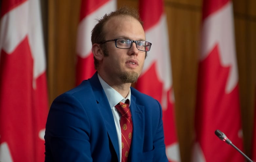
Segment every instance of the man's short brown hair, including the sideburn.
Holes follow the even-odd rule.
[[[103,27],[108,20],[110,20],[112,17],[115,17],[115,16],[131,16],[136,20],[138,20],[140,24],[143,26],[143,22],[139,17],[138,10],[134,8],[129,8],[127,6],[123,6],[115,11],[105,14],[101,19],[96,19],[98,23],[95,25],[95,27],[92,30],[92,36],[91,36],[92,45],[95,43],[100,43],[105,41],[106,33],[104,32]],[[100,46],[101,48],[106,50],[105,44],[101,44]],[[98,66],[98,60],[96,60],[94,57],[94,67],[96,70],[97,70],[97,66]]]

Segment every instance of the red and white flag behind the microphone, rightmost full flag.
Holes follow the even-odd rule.
[[[243,150],[233,5],[230,0],[204,0],[199,57],[194,162],[241,162],[244,157],[221,141],[222,131]]]

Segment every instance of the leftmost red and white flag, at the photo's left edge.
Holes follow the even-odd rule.
[[[8,0],[0,22],[0,161],[44,159],[48,112],[39,0]]]

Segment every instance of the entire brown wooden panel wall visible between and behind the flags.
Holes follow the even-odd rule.
[[[138,8],[138,0],[117,0]],[[233,0],[245,153],[250,155],[256,92],[256,1]],[[165,0],[181,160],[189,162],[194,140],[197,57],[202,0]],[[75,86],[75,43],[80,0],[48,0],[49,104]],[[217,139],[216,139],[217,140]],[[232,149],[232,148],[230,148]]]

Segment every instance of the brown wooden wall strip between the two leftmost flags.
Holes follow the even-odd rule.
[[[49,101],[75,86],[75,44],[80,0],[48,1]]]

